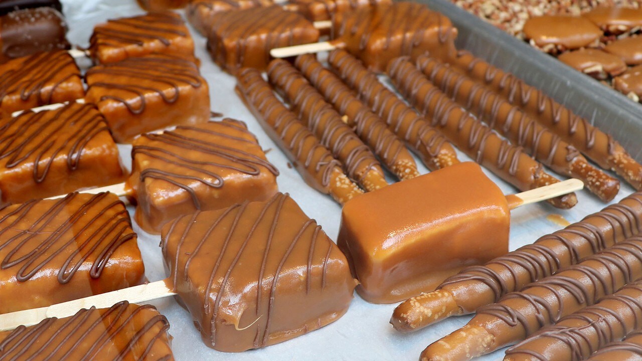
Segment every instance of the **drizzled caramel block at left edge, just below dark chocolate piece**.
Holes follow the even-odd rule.
[[[80,69],[66,51],[39,53],[0,64],[0,112],[4,116],[83,96]]]

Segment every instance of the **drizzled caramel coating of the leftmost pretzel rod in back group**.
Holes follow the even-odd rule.
[[[251,107],[261,115],[259,119],[273,128],[280,140],[279,142],[274,139],[275,142],[285,146],[293,155],[293,161],[300,162],[306,172],[316,180],[308,184],[318,191],[327,193],[333,172],[342,172],[341,163],[334,159],[330,151],[319,143],[317,137],[277,99],[259,71],[250,68],[241,70],[238,74],[238,87]],[[307,180],[308,177],[304,179]]]

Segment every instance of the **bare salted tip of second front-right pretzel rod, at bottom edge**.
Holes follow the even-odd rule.
[[[494,337],[480,326],[466,325],[430,344],[421,353],[421,361],[467,361],[485,355]]]

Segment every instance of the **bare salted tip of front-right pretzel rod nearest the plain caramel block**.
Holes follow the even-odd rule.
[[[450,292],[436,290],[399,304],[392,313],[390,324],[399,332],[410,333],[461,313]]]

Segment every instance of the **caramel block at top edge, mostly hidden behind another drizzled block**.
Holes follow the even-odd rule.
[[[215,15],[272,4],[272,0],[192,0],[187,5],[187,19],[199,33],[207,36],[216,21]]]

